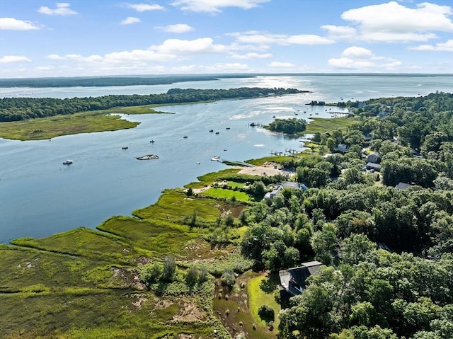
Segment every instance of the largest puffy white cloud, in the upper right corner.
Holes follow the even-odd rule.
[[[435,38],[430,31],[451,32],[449,6],[423,2],[408,8],[395,1],[345,11],[341,18],[357,25],[361,40],[377,42],[426,41]]]

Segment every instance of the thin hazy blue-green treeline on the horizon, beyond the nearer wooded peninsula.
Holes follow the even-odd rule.
[[[226,78],[248,78],[247,75],[192,76],[85,76],[71,78],[0,79],[0,87],[91,87],[168,85],[187,81],[212,81]]]

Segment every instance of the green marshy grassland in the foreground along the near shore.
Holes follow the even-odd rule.
[[[229,168],[208,173],[192,185],[212,184],[238,171]],[[244,185],[236,181],[226,184]],[[253,334],[251,338],[275,338],[276,330],[271,332],[258,322],[253,315],[256,311],[243,299],[249,295],[253,306],[265,298],[253,287],[256,273],[246,272],[253,262],[245,260],[236,247],[246,227],[236,219],[234,226],[224,223],[226,216],[239,217],[247,205],[241,200],[247,201],[248,195],[223,188],[204,193],[210,196],[188,196],[185,189],[164,190],[154,205],[135,210],[132,217],[110,217],[97,230],[81,227],[0,245],[0,336],[110,339],[192,335],[205,339],[213,338],[216,329],[215,338],[226,339],[228,328],[231,334],[246,331]],[[236,202],[231,201],[232,196]],[[188,223],[193,216],[195,226]],[[226,241],[212,241],[214,236]],[[168,254],[176,258],[180,282],[161,289],[145,288],[139,267]],[[191,294],[183,277],[194,263],[213,277],[205,282],[209,288]],[[225,270],[246,272],[239,275],[229,300],[224,292],[219,299],[219,284],[214,286]],[[248,280],[252,287],[245,288]],[[270,294],[266,296],[273,300]],[[225,318],[225,307],[234,309],[234,316],[231,311]],[[219,309],[221,314],[217,314]]]

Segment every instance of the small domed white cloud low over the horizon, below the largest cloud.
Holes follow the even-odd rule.
[[[348,47],[341,53],[341,57],[328,60],[328,64],[335,69],[378,69],[393,70],[401,66],[402,62],[390,57],[378,57],[363,47]]]

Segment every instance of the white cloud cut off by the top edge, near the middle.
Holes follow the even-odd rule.
[[[226,7],[250,9],[268,1],[270,0],[176,0],[171,4],[183,11],[219,13]]]

